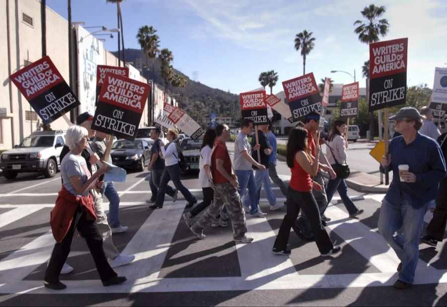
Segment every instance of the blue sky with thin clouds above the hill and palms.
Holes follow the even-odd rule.
[[[374,3],[384,5],[383,18],[390,30],[381,40],[408,37],[407,84],[433,87],[435,67],[447,67],[447,1],[445,0],[125,0],[121,4],[126,48],[140,48],[138,28],[151,25],[160,48],[174,55],[174,67],[192,78],[232,93],[259,87],[261,72],[275,70],[282,81],[302,75],[302,57],[294,48],[297,33],[313,32],[315,48],[306,57],[306,73],[317,82],[331,77],[350,83],[354,75],[361,86],[362,65],[369,47],[354,33],[360,11]],[[67,1],[47,0],[47,5],[67,18]],[[85,26],[117,26],[116,5],[105,0],[72,0],[72,21]],[[89,29],[94,31],[95,29]],[[117,50],[117,36],[107,36],[105,48]]]

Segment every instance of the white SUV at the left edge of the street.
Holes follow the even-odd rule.
[[[42,172],[54,177],[61,165],[60,155],[65,145],[65,132],[35,131],[12,150],[1,154],[0,169],[7,179],[14,179],[18,173]]]

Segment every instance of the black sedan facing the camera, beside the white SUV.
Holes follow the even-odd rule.
[[[113,143],[110,156],[113,165],[122,168],[136,168],[138,171],[145,169],[146,161],[150,159],[152,146],[145,139],[118,140]]]

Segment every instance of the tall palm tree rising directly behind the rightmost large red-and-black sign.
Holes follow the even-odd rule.
[[[361,11],[363,17],[367,20],[362,22],[357,20],[354,25],[358,25],[354,29],[354,32],[359,35],[359,40],[365,44],[371,44],[379,41],[379,35],[385,36],[389,29],[389,23],[386,19],[377,20],[385,12],[385,7],[383,5],[376,6],[371,4],[370,6],[365,6]],[[369,62],[369,61],[368,61]],[[366,64],[366,63],[365,63]],[[368,66],[369,68],[369,66]],[[362,70],[363,74],[365,73]],[[369,75],[369,73],[368,73]],[[370,112],[370,140],[374,138],[374,114]]]

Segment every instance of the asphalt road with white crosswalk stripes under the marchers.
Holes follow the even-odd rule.
[[[350,144],[351,145],[351,144]],[[232,150],[232,146],[228,144]],[[290,170],[279,162],[287,179]],[[68,258],[74,272],[61,275],[68,285],[54,292],[43,287],[43,275],[54,239],[49,213],[60,189],[60,174],[51,179],[21,174],[0,178],[0,305],[1,306],[447,306],[447,245],[421,243],[415,284],[406,291],[392,287],[399,260],[377,233],[380,194],[349,190],[365,213],[350,219],[336,194],[326,215],[327,230],[342,247],[333,257],[319,256],[314,242],[294,232],[290,257],[270,250],[285,209],[270,212],[264,193],[266,219],[247,216],[250,244],[235,244],[232,230],[208,228],[197,239],[181,215],[186,201],[166,197],[163,209],[151,211],[148,172],[130,172],[117,183],[120,220],[129,226],[113,235],[117,248],[135,254],[130,265],[117,268],[128,281],[104,288],[83,239],[77,238]],[[202,198],[197,174],[182,182]],[[277,187],[278,202],[285,200]],[[106,209],[108,208],[105,200]],[[430,215],[426,216],[426,221]]]

